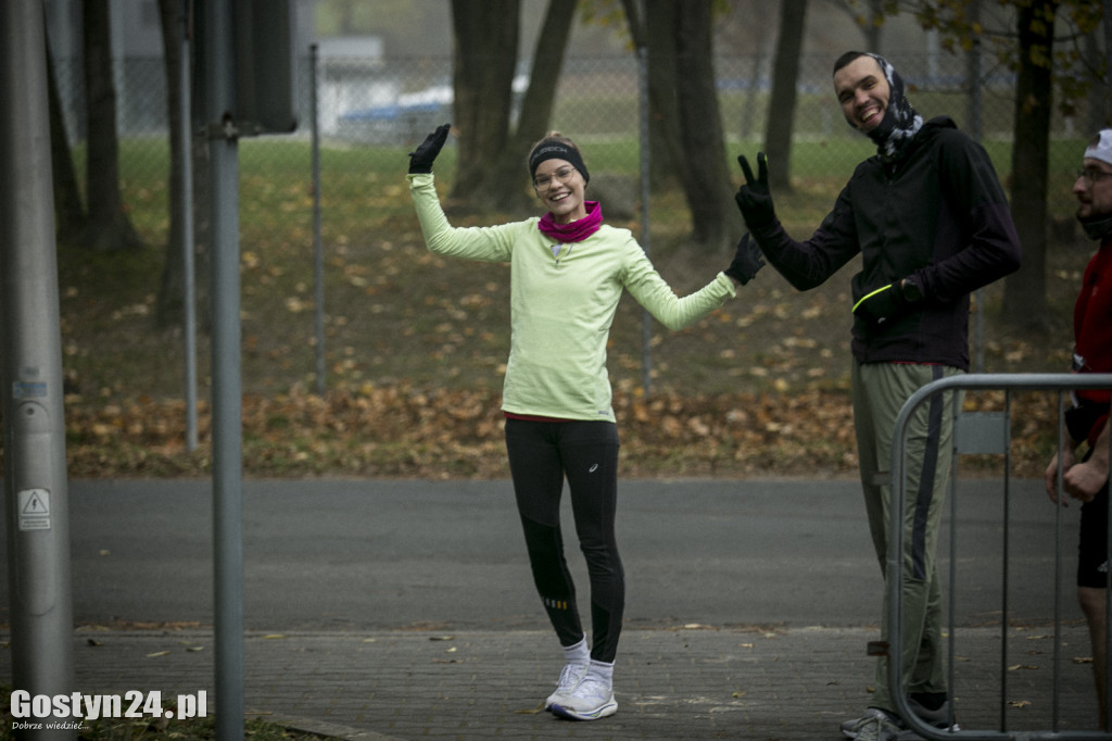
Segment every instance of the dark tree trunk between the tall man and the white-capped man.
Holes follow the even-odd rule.
[[[1004,285],[1004,317],[1032,326],[1046,309],[1046,176],[1049,170],[1051,41],[1058,2],[1042,0],[1019,11],[1020,71],[1015,85],[1012,146],[1012,219],[1023,245],[1023,267]]]

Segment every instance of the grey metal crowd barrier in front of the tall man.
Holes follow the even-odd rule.
[[[1053,628],[1053,639],[1054,639],[1054,652],[1053,652],[1053,679],[1052,679],[1052,715],[1051,725],[1052,728],[1045,731],[1009,731],[1007,730],[1007,648],[1009,648],[1009,605],[1007,605],[1007,584],[1009,584],[1009,555],[1010,555],[1010,543],[1007,536],[1007,512],[1009,512],[1009,497],[1011,494],[1011,483],[1010,483],[1010,470],[1011,470],[1011,405],[1012,395],[1015,392],[1056,392],[1059,401],[1059,422],[1058,422],[1058,449],[1061,452],[1064,449],[1066,438],[1065,438],[1065,425],[1064,425],[1064,402],[1065,394],[1070,391],[1078,389],[1108,389],[1112,388],[1112,374],[967,374],[952,376],[943,378],[941,381],[933,382],[926,386],[919,389],[915,394],[907,399],[903,409],[896,418],[895,431],[892,441],[892,506],[890,507],[890,518],[888,518],[888,552],[886,556],[886,567],[890,579],[887,580],[886,589],[888,590],[888,625],[890,635],[887,639],[886,653],[888,655],[888,686],[892,692],[892,698],[897,705],[896,710],[900,715],[903,717],[909,725],[909,728],[922,735],[924,739],[986,739],[986,740],[1012,740],[1012,741],[1035,741],[1042,739],[1054,739],[1065,740],[1065,739],[1106,739],[1112,740],[1112,732],[1101,732],[1101,731],[1063,731],[1061,730],[1061,718],[1060,718],[1060,704],[1061,704],[1061,632],[1062,632],[1062,580],[1060,564],[1062,562],[1062,508],[1063,503],[1060,498],[1059,505],[1055,507],[1056,517],[1054,521],[1054,527],[1056,531],[1056,544],[1055,544],[1055,564],[1054,564],[1054,628]],[[954,458],[953,465],[951,466],[951,478],[950,478],[950,639],[947,641],[949,645],[949,661],[947,673],[949,673],[949,686],[952,699],[952,707],[954,708],[954,718],[957,719],[961,724],[960,729],[937,729],[932,728],[924,723],[922,720],[916,718],[914,713],[911,712],[907,707],[906,698],[904,696],[903,690],[901,689],[900,678],[903,674],[903,656],[898,646],[901,643],[901,632],[902,632],[902,620],[901,615],[903,613],[902,605],[902,594],[903,594],[903,513],[904,513],[904,501],[905,501],[905,461],[904,456],[906,454],[906,433],[907,423],[914,414],[915,409],[922,405],[924,402],[930,399],[936,394],[942,394],[945,392],[960,392],[960,391],[1003,391],[1005,393],[1005,404],[1004,412],[962,412],[956,408],[959,405],[959,399],[962,397],[961,394],[952,394],[952,403],[954,404]],[[1003,488],[1004,488],[1004,527],[1003,527],[1003,589],[1002,589],[1002,610],[1001,610],[1001,680],[1000,680],[1000,721],[999,729],[996,730],[972,730],[964,728],[961,723],[961,713],[957,712],[961,708],[960,699],[954,696],[955,684],[955,643],[956,643],[956,626],[955,626],[955,582],[956,582],[956,564],[957,557],[955,552],[955,527],[957,524],[956,516],[956,471],[957,471],[957,456],[967,454],[1000,454],[1004,456],[1004,474],[1003,474]],[[1061,458],[1060,458],[1061,460]],[[1049,465],[1050,461],[1046,461]],[[1059,491],[1062,491],[1062,470],[1059,466]],[[1110,511],[1110,523],[1109,526],[1112,528],[1112,507]],[[1074,546],[1075,544],[1071,544]],[[1071,550],[1070,553],[1075,553],[1075,550]],[[1112,559],[1112,539],[1109,539],[1109,559]],[[894,576],[894,577],[892,577]],[[1071,581],[1069,586],[1073,587],[1073,582]],[[1109,573],[1109,583],[1105,589],[1105,610],[1106,614],[1112,618],[1112,573]],[[1112,708],[1112,701],[1108,696],[1109,691],[1112,690],[1112,656],[1109,656],[1109,650],[1112,650],[1112,622],[1105,625],[1105,663],[1108,665],[1108,671],[1105,672],[1105,707]],[[1086,717],[1085,723],[1088,725],[1096,724],[1096,691],[1093,684],[1088,688],[1089,698],[1091,699],[1091,704],[1093,708],[1092,713]],[[1108,712],[1108,711],[1106,711]],[[1103,727],[1105,729],[1112,730],[1112,719],[1105,718]],[[953,723],[953,721],[951,721]]]

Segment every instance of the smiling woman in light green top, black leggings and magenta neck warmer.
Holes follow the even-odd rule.
[[[454,228],[436,195],[433,161],[445,124],[410,152],[409,189],[428,248],[438,255],[510,264],[510,350],[503,388],[506,449],[533,579],[566,665],[545,709],[568,719],[613,715],[613,672],[625,581],[614,536],[618,434],[610,408],[606,342],[628,290],[672,329],[696,322],[735,295],[764,264],[748,235],[729,268],[678,298],[627,229],[603,224],[584,198],[590,176],[578,148],[557,132],[528,157],[547,209],[493,227]],[[564,560],[559,504],[567,477],[576,533],[590,581],[593,641],[579,622]]]

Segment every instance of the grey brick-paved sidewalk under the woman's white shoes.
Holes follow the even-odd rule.
[[[1063,629],[1060,728],[1089,728],[1085,632]],[[866,628],[631,630],[615,670],[618,713],[582,723],[540,711],[560,664],[547,632],[249,633],[245,705],[290,728],[345,739],[837,739],[867,703]],[[86,628],[75,648],[87,694],[205,690],[218,711],[211,631]],[[961,629],[956,699],[964,729],[999,729],[999,628]],[[1053,636],[1009,633],[1009,730],[1053,723]]]

